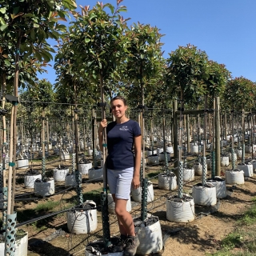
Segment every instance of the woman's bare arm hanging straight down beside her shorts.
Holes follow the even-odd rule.
[[[134,178],[132,181],[132,185],[134,189],[137,189],[140,186],[139,170],[141,167],[141,160],[142,160],[142,135],[134,137],[134,153],[135,153]]]

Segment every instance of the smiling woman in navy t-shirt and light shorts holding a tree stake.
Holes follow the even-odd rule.
[[[107,125],[106,119],[102,120],[98,128],[98,141],[103,150],[103,130],[106,128],[107,181],[115,202],[114,210],[121,234],[113,252],[124,251],[123,255],[131,256],[136,254],[139,241],[134,231],[133,218],[126,211],[126,203],[130,198],[130,186],[134,189],[140,186],[142,134],[138,122],[126,118],[128,106],[125,98],[116,96],[111,99],[110,104],[116,121]]]

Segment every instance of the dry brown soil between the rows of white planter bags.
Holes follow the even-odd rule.
[[[55,162],[46,164],[46,166],[48,170],[53,170],[58,164],[59,162]],[[40,162],[38,162],[38,165],[40,165]],[[66,162],[66,165],[71,166],[71,161]],[[222,174],[225,174],[226,169],[228,167],[222,168]],[[159,170],[159,166],[153,166],[150,169],[146,169],[146,173],[154,173],[157,170]],[[22,177],[25,171],[18,170],[18,176]],[[210,174],[209,171],[208,174]],[[222,178],[225,178],[225,176],[222,176]],[[198,184],[201,180],[201,176],[195,176],[193,182],[185,182],[184,191],[191,193],[192,186]],[[244,185],[226,185],[228,195],[226,198],[218,199],[218,204],[214,206],[215,208],[211,206],[195,206],[195,219],[193,222],[169,222],[166,220],[166,198],[177,194],[177,191],[158,190],[157,178],[151,179],[151,182],[153,182],[154,186],[154,202],[148,203],[148,214],[159,218],[164,242],[162,252],[154,255],[200,256],[220,250],[222,238],[234,230],[236,221],[251,205],[252,198],[256,194],[256,178],[246,178]],[[41,202],[62,202],[63,199],[75,197],[76,190],[72,189],[64,192],[65,187],[63,185],[64,182],[55,182],[56,192],[53,196],[39,198],[30,202],[17,202],[15,210],[33,210]],[[102,182],[88,182],[87,175],[83,175],[82,193],[98,190],[98,194],[100,194],[101,188]],[[26,189],[23,184],[18,184],[16,194],[17,196],[33,198],[34,190]],[[74,202],[72,200],[71,202]],[[132,202],[131,214],[134,218],[140,216],[140,209],[140,203]],[[44,214],[47,213],[42,215]],[[38,228],[33,224],[22,226],[22,229],[28,231],[29,234],[28,255],[85,255],[85,247],[90,242],[102,239],[101,216],[101,211],[98,209],[98,228],[92,234],[70,234],[66,226],[66,214],[58,214],[58,217],[47,218],[45,227],[42,228]],[[110,214],[110,233],[113,236],[118,235],[118,223],[114,214]]]

